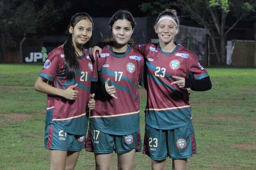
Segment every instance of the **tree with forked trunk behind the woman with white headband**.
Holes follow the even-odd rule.
[[[153,3],[143,3],[140,8],[143,12],[149,12],[152,15],[169,8],[177,7],[182,14],[204,26],[210,36],[218,64],[226,63],[226,36],[236,24],[243,19],[255,18],[256,1],[255,0],[156,0]],[[227,28],[227,16],[229,28]],[[217,35],[216,35],[217,33]],[[220,38],[221,49],[217,48],[216,37]],[[219,55],[219,53],[221,55]]]

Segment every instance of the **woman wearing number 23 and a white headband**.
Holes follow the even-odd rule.
[[[151,158],[153,170],[166,169],[168,156],[173,169],[187,168],[187,158],[197,153],[187,88],[206,91],[212,87],[197,56],[174,42],[179,25],[176,10],[165,10],[154,26],[159,43],[135,47],[146,64],[148,99],[143,153]]]

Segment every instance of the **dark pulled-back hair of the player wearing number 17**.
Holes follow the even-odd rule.
[[[135,20],[132,14],[127,10],[118,10],[117,12],[114,13],[112,18],[110,19],[110,29],[112,29],[114,22],[116,22],[117,20],[123,20],[123,19],[130,21],[132,25],[132,29],[134,29],[136,25]]]

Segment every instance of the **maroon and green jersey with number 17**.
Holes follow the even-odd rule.
[[[140,97],[138,82],[143,77],[144,59],[137,50],[128,46],[126,53],[116,55],[111,45],[102,49],[96,58],[94,71],[98,71],[102,85],[110,78],[109,85],[116,87],[116,97],[97,99],[96,108],[91,112],[93,127],[108,134],[127,135],[137,132],[140,127]],[[95,77],[96,78],[96,77]],[[142,85],[142,81],[140,81]]]

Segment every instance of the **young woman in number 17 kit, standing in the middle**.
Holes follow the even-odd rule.
[[[111,169],[114,151],[118,169],[132,170],[135,152],[141,150],[138,82],[144,59],[128,45],[134,27],[130,12],[116,12],[110,20],[113,41],[103,47],[94,65],[103,89],[95,92],[96,108],[90,115],[86,150],[94,152],[99,170]]]

